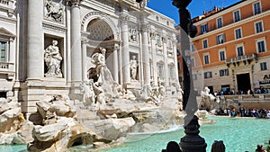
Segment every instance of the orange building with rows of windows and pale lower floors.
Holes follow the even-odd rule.
[[[269,0],[214,8],[193,18],[193,24],[198,33],[191,39],[190,64],[198,93],[205,86],[224,94],[270,89]]]

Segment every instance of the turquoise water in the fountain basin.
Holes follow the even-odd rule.
[[[206,140],[207,152],[211,151],[214,140],[223,140],[226,152],[255,151],[257,144],[266,146],[270,139],[270,119],[254,118],[228,118],[211,117],[214,124],[202,125],[200,135]],[[139,135],[136,135],[139,136]],[[166,133],[143,135],[144,138],[134,142],[128,142],[120,147],[102,150],[102,152],[159,152],[166,148],[166,143],[174,140],[180,141],[184,137],[184,130],[176,130]],[[25,146],[0,146],[1,152],[16,152],[25,149]]]

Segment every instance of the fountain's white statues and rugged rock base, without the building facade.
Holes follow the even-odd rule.
[[[53,45],[45,51],[47,76],[61,75],[61,58]],[[51,51],[55,52],[49,58]],[[80,84],[81,94],[76,94],[79,104],[72,104],[67,94],[44,97],[36,103],[39,121],[32,122],[23,117],[20,103],[1,98],[0,144],[27,144],[29,151],[67,151],[80,145],[100,149],[121,144],[130,132],[155,133],[183,125],[180,86],[172,96],[166,96],[163,85],[125,89],[112,79],[105,52],[101,48],[92,56],[88,80]],[[137,70],[136,64],[130,61],[130,68]],[[130,78],[138,81],[132,74],[136,71],[130,69]]]

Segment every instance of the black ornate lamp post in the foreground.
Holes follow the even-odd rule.
[[[184,95],[183,108],[186,112],[184,117],[184,133],[185,136],[180,141],[180,148],[183,152],[205,152],[206,143],[199,136],[200,125],[198,117],[194,113],[198,110],[196,94],[193,89],[192,67],[190,61],[190,41],[189,37],[194,37],[197,29],[191,22],[191,15],[186,9],[192,0],[174,0],[173,4],[179,9],[181,31],[181,49],[183,58],[183,76],[184,76]],[[173,145],[173,144],[170,144]],[[170,152],[169,144],[166,151]],[[175,151],[176,152],[176,151]]]

